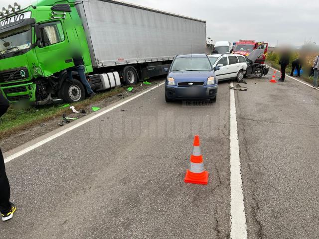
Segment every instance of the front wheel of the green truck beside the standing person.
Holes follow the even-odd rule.
[[[73,103],[85,99],[84,86],[76,79],[73,79],[72,83],[64,82],[61,90],[65,102]]]

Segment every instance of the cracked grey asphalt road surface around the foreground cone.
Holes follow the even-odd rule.
[[[319,92],[270,75],[235,92],[248,238],[318,239]],[[228,86],[205,106],[158,87],[9,161],[0,238],[229,238]],[[195,134],[207,186],[183,183]]]

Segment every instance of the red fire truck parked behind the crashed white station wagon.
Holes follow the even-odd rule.
[[[263,49],[264,54],[257,58],[256,63],[264,64],[267,56],[268,43],[255,40],[239,40],[234,46],[232,53],[247,56],[255,49]]]

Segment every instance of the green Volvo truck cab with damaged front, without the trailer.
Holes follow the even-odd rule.
[[[85,98],[80,81],[71,83],[71,48],[81,49],[86,72],[93,72],[90,52],[74,0],[39,0],[0,13],[0,91],[10,103],[42,105]],[[70,97],[71,96],[71,97]],[[73,96],[73,97],[72,97]]]

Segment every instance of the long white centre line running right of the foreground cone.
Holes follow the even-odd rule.
[[[230,216],[230,238],[247,239],[234,90],[230,90]]]

